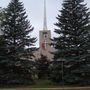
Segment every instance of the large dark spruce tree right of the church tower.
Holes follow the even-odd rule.
[[[60,61],[62,64],[59,67],[64,69],[59,75],[62,79],[60,82],[80,83],[87,78],[85,70],[88,67],[87,28],[90,26],[90,12],[83,2],[84,0],[64,0],[62,10],[57,16],[58,22],[55,24],[57,37],[54,37],[53,41],[56,50],[54,61]]]

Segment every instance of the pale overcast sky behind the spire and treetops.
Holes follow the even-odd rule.
[[[11,0],[0,0],[0,7],[7,7]],[[24,3],[26,14],[31,25],[34,27],[32,32],[33,37],[37,37],[36,46],[39,46],[39,31],[43,30],[43,12],[44,12],[44,0],[20,0]],[[51,30],[52,37],[54,33],[54,23],[57,22],[56,17],[59,14],[58,10],[62,8],[63,0],[46,0],[47,9],[47,27]],[[87,3],[87,7],[90,8],[90,0],[84,0]]]

